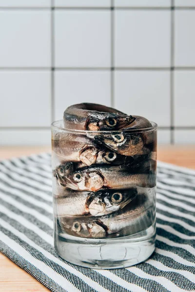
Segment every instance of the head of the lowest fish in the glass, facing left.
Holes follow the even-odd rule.
[[[74,219],[71,222],[63,220],[63,227],[66,231],[70,230],[75,236],[101,238],[106,236],[104,228],[98,225],[98,222],[93,222],[85,219]]]

